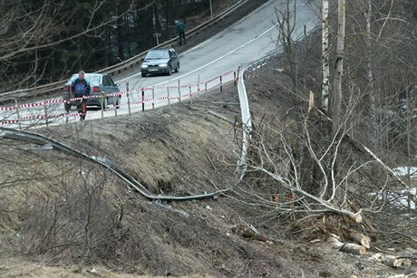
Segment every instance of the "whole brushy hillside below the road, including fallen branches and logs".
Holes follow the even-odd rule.
[[[408,11],[415,29],[414,6],[395,3],[391,14]],[[358,18],[354,7],[348,11]],[[398,33],[379,40],[412,41],[395,24],[383,30]],[[415,44],[394,43],[392,56],[373,53],[380,58],[373,60],[381,101],[375,133],[363,44],[351,34],[346,117],[336,135],[319,104],[320,34],[292,45],[296,72],[286,55],[246,72],[254,129],[241,180],[246,126],[233,84],[158,110],[33,130],[112,161],[154,195],[195,200],[146,198],[91,161],[2,139],[0,276],[415,276],[415,179],[385,168],[416,166]],[[397,62],[395,70],[383,61]]]

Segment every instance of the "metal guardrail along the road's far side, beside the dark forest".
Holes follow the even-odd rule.
[[[188,37],[192,37],[193,35],[199,34],[199,32],[203,31],[209,26],[217,24],[219,21],[227,17],[229,14],[231,14],[233,11],[238,9],[239,6],[245,4],[247,1],[248,0],[238,1],[236,4],[231,5],[230,7],[228,7],[228,9],[224,10],[222,13],[216,15],[215,17],[209,19],[204,24],[200,24],[199,26],[189,30],[188,32],[186,32],[186,35]],[[151,49],[167,47],[167,46],[170,46],[172,43],[175,43],[176,41],[177,41],[177,38],[175,37],[175,38],[170,39],[169,41],[160,43],[158,46],[152,47]],[[141,63],[141,58],[143,58],[147,52],[148,51],[139,53],[126,61],[114,64],[110,67],[104,68],[97,72],[105,72],[105,73],[114,75],[114,74],[121,73],[127,70],[131,70],[134,66],[137,66]],[[66,81],[67,80],[56,81],[53,83],[44,84],[44,85],[37,86],[34,88],[20,89],[16,91],[6,91],[3,93],[0,93],[0,102],[14,101],[14,99],[31,98],[31,97],[35,97],[38,95],[51,94],[53,91],[61,90]]]

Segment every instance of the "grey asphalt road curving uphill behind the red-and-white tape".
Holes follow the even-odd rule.
[[[218,88],[220,81],[224,84],[233,81],[239,66],[257,61],[268,53],[279,50],[277,44],[278,30],[276,28],[276,7],[283,7],[283,0],[269,1],[248,14],[238,23],[228,26],[227,29],[216,34],[199,45],[179,55],[180,70],[170,76],[141,77],[140,69],[123,72],[113,79],[121,84],[121,108],[115,110],[89,109],[86,120],[112,117],[128,114],[129,111],[138,112],[150,110],[177,101],[184,101],[199,97],[206,90]],[[312,11],[305,3],[307,0],[297,1],[296,29],[293,37],[296,39],[304,31],[315,27],[318,22],[317,12]],[[220,79],[221,76],[221,79]],[[127,84],[130,89],[130,103],[126,94]],[[143,91],[143,93],[142,93]],[[142,98],[144,102],[142,103]],[[76,111],[63,116],[63,103],[40,105],[30,108],[21,108],[16,111],[2,110],[4,120],[18,118],[34,118],[24,120],[21,124],[12,123],[4,125],[8,128],[27,128],[33,125],[45,125],[43,115],[48,119],[49,125],[63,124],[68,121],[79,120]]]

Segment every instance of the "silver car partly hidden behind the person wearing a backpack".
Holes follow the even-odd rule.
[[[78,73],[68,80],[63,86],[63,100],[68,101],[74,98],[73,91],[71,91],[71,84],[78,77]],[[121,96],[114,95],[120,92],[120,83],[115,84],[110,75],[105,73],[85,73],[86,81],[90,83],[90,98],[87,101],[87,106],[97,106],[102,109],[107,109],[109,104],[119,108],[121,105]],[[94,97],[95,96],[95,97]],[[78,101],[65,102],[64,108],[68,112],[71,107],[77,106]]]

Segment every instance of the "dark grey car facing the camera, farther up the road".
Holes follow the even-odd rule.
[[[179,57],[173,48],[151,49],[142,60],[141,75],[179,72]]]

